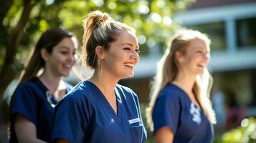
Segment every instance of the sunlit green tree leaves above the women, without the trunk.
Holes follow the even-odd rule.
[[[148,54],[148,48],[154,44],[166,45],[177,25],[171,17],[176,11],[186,8],[194,0],[34,0],[34,8],[30,14],[30,21],[26,25],[22,41],[14,64],[27,59],[23,51],[31,49],[39,35],[50,26],[62,26],[73,31],[82,40],[82,19],[95,9],[108,12],[115,20],[133,26],[137,31],[141,45],[141,54]],[[4,17],[4,34],[0,37],[0,66],[3,63],[4,48],[7,37],[15,28],[23,10],[23,2],[14,0],[8,14]],[[3,37],[3,38],[2,38]],[[161,47],[163,49],[163,47]]]

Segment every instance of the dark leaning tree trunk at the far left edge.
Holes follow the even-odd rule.
[[[7,45],[6,45],[6,54],[4,59],[4,64],[1,67],[0,71],[0,99],[3,97],[4,90],[9,85],[12,79],[15,77],[14,69],[12,65],[14,64],[14,57],[19,46],[19,42],[22,39],[22,35],[24,33],[24,27],[29,21],[29,15],[34,7],[31,1],[26,1],[24,3],[24,9],[22,11],[22,16],[19,19],[18,24],[15,29],[11,32],[11,35],[7,37]]]

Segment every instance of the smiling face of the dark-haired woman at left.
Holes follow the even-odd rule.
[[[70,37],[62,39],[54,46],[52,53],[44,58],[46,71],[51,71],[56,76],[67,77],[70,69],[75,64],[75,46]]]

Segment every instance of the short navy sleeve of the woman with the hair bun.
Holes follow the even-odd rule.
[[[82,142],[85,134],[83,125],[87,124],[87,119],[85,119],[86,114],[82,112],[84,109],[85,107],[82,107],[75,99],[62,99],[54,107],[52,139]]]

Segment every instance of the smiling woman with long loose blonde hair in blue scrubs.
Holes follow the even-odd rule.
[[[171,37],[146,111],[156,143],[212,142],[216,121],[209,101],[209,45],[199,31],[182,30]]]

